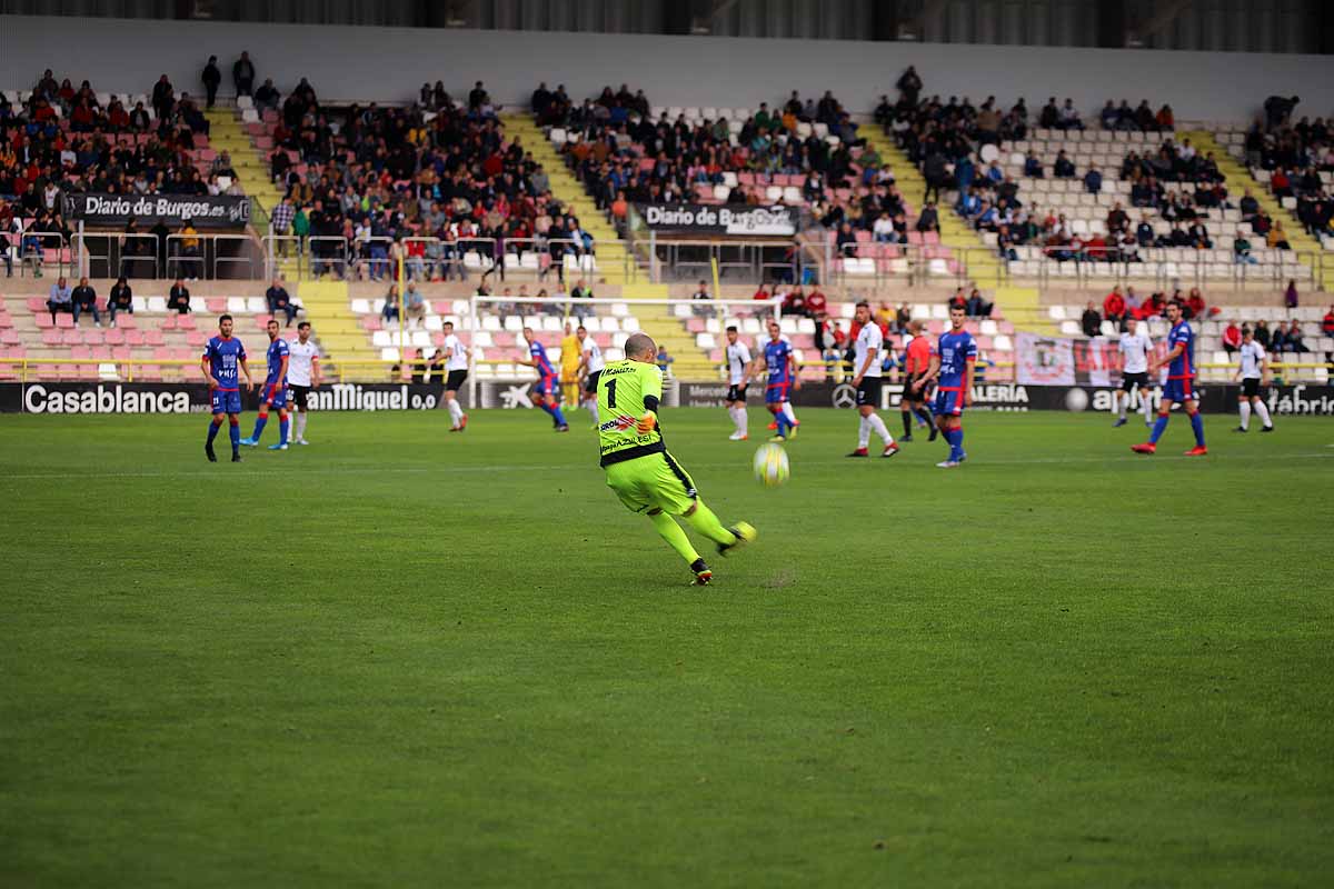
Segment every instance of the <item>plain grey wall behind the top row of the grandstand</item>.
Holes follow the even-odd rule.
[[[787,89],[832,89],[848,108],[868,112],[914,64],[927,93],[975,101],[992,89],[1030,104],[1058,95],[1091,112],[1109,97],[1146,97],[1171,104],[1178,120],[1241,120],[1271,93],[1297,93],[1302,113],[1334,112],[1334,57],[1310,55],[47,16],[3,16],[0,32],[5,88],[31,85],[43,69],[57,68],[59,76],[87,77],[111,92],[139,92],[160,73],[197,92],[209,53],[229,65],[247,49],[261,79],[273,77],[285,92],[308,77],[324,100],[406,100],[438,79],[462,96],[480,77],[496,101],[511,105],[527,103],[546,80],[564,83],[576,96],[627,83],[671,105],[758,105]],[[223,95],[228,87],[224,79]]]

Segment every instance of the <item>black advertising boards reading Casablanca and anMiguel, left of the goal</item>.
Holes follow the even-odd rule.
[[[312,411],[432,411],[444,404],[442,383],[335,383],[311,392]],[[459,393],[464,407],[467,391]],[[259,391],[241,392],[259,407]],[[0,413],[208,413],[203,383],[3,383]]]

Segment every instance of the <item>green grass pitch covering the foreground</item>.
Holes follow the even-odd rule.
[[[0,884],[1327,885],[1334,424],[800,415],[707,589],[583,412],[4,417]]]

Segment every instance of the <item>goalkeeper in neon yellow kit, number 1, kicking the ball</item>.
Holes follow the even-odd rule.
[[[616,492],[631,512],[642,512],[654,522],[671,548],[690,565],[695,582],[703,586],[714,578],[704,560],[676,524],[680,516],[696,532],[718,544],[719,553],[755,540],[755,529],[744,521],[723,528],[714,510],[703,504],[686,470],[663,444],[658,428],[658,403],[663,375],[654,363],[658,347],[644,333],[626,340],[626,360],[610,361],[598,379],[598,444],[607,486]]]

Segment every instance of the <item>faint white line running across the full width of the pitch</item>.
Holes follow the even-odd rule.
[[[1334,448],[1334,445],[1329,445]],[[1274,454],[1209,454],[1214,460],[1227,460],[1227,461],[1242,461],[1242,462],[1259,462],[1275,460]],[[1311,453],[1286,453],[1281,454],[1283,460],[1334,460],[1334,453],[1325,452],[1311,452]],[[1089,462],[1143,462],[1151,464],[1154,461],[1179,461],[1179,462],[1201,462],[1199,457],[1186,457],[1185,454],[1154,454],[1154,456],[1106,456],[1106,457],[1035,457],[1023,460],[986,460],[986,458],[970,458],[967,465],[963,466],[963,472],[970,469],[984,469],[987,466],[1046,466],[1046,465],[1065,465],[1065,464],[1089,464]],[[223,461],[225,462],[225,461]],[[735,469],[743,465],[744,460],[738,460],[736,462],[700,462],[690,464],[694,469]],[[591,464],[590,464],[591,465]],[[802,466],[846,466],[850,465],[843,460],[800,460],[798,465]],[[895,462],[895,465],[902,465]],[[255,472],[253,469],[241,469],[245,478],[256,478],[264,476],[272,477],[301,477],[301,476],[348,476],[348,474],[366,474],[366,476],[388,476],[388,474],[463,474],[463,473],[483,473],[483,472],[568,472],[575,468],[575,464],[555,464],[555,465],[536,465],[536,464],[496,464],[487,466],[292,466],[288,469],[263,469]],[[596,468],[596,466],[594,466]],[[168,470],[168,472],[40,472],[40,473],[11,473],[0,474],[0,482],[5,481],[35,481],[35,480],[71,480],[71,478],[217,478],[219,472],[228,472],[224,468],[217,469],[184,469],[184,470]]]

